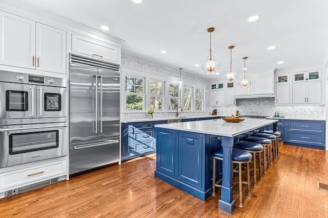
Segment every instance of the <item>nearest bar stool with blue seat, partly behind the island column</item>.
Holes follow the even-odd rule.
[[[213,154],[213,183],[212,183],[212,196],[215,196],[215,187],[221,187],[220,183],[222,179],[219,181],[215,181],[215,171],[216,171],[216,160],[223,161],[223,152],[222,150],[217,151]],[[236,163],[238,164],[238,167],[234,168],[233,171],[236,172],[236,169],[238,168],[238,183],[239,184],[239,207],[242,207],[242,184],[247,184],[248,187],[248,195],[251,195],[250,192],[250,162],[252,161],[252,155],[249,152],[245,152],[238,149],[233,149],[232,151],[232,164]],[[242,181],[241,178],[241,164],[246,163],[247,165],[247,181]],[[234,183],[234,184],[235,184]]]

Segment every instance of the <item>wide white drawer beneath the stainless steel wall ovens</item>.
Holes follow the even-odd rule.
[[[66,173],[66,160],[32,166],[0,174],[0,189],[6,189],[38,180],[62,176]]]

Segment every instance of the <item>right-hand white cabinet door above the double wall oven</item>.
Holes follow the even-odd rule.
[[[66,73],[66,32],[36,23],[36,68]]]

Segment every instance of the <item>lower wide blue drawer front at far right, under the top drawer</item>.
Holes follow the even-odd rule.
[[[324,146],[324,134],[307,134],[299,132],[289,132],[288,141],[303,144]]]

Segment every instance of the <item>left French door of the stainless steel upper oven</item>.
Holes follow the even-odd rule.
[[[36,117],[35,85],[0,82],[0,119]]]

